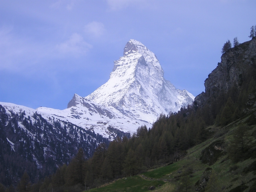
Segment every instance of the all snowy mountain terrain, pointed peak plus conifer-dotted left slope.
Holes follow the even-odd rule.
[[[25,167],[42,175],[52,173],[80,147],[90,157],[99,143],[129,138],[140,126],[150,128],[161,113],[176,112],[193,100],[188,91],[175,89],[163,78],[154,53],[131,39],[114,62],[109,80],[87,97],[74,94],[67,109],[0,102],[0,158],[7,157],[0,159],[0,169],[10,177],[5,182],[0,175],[0,181],[18,181]],[[10,172],[11,165],[21,169]]]

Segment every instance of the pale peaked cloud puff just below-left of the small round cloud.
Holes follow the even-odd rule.
[[[57,50],[64,54],[81,55],[85,54],[92,46],[86,43],[81,35],[73,33],[69,40],[56,46]]]

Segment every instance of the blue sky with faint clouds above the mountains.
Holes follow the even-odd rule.
[[[255,13],[255,0],[0,0],[0,101],[65,109],[109,79],[129,39],[196,96],[223,44],[250,40]]]

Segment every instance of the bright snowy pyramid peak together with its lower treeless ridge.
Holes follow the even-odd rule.
[[[87,97],[75,94],[67,109],[39,107],[37,111],[113,139],[141,125],[150,127],[161,113],[177,112],[193,103],[191,93],[176,89],[163,74],[155,54],[131,39],[104,85]]]

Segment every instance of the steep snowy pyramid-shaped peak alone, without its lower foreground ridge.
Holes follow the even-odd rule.
[[[123,57],[114,62],[109,80],[85,98],[151,123],[159,114],[177,112],[195,98],[186,90],[175,89],[163,74],[155,54],[131,39]]]

